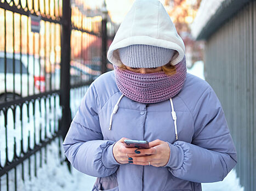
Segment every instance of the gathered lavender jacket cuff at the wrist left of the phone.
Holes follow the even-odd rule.
[[[108,168],[112,169],[115,168],[116,165],[119,165],[113,155],[113,146],[116,144],[116,142],[112,145],[106,146],[103,150],[102,156],[101,156],[101,162],[103,165]]]

